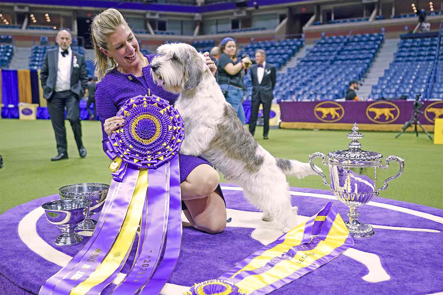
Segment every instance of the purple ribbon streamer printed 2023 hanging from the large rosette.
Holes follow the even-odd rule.
[[[136,294],[137,290],[152,277],[159,264],[168,223],[168,166],[169,164],[167,163],[155,170],[150,170],[148,180],[148,216],[145,220],[146,230],[149,231],[149,235],[145,236],[140,256],[136,259],[130,272],[124,281],[114,289],[114,295]],[[162,219],[163,222],[161,222]],[[152,259],[152,256],[156,257],[155,260]]]

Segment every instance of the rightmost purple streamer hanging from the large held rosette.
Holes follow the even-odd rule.
[[[169,218],[167,223],[167,241],[163,260],[151,280],[140,291],[139,295],[159,294],[177,264],[182,243],[182,202],[180,195],[179,157],[171,159]]]

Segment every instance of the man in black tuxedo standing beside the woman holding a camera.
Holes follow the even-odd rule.
[[[251,66],[252,103],[251,117],[249,118],[249,132],[254,135],[257,124],[258,108],[263,105],[263,138],[268,139],[269,113],[274,95],[272,91],[276,85],[276,67],[266,62],[266,52],[258,49],[255,52],[255,64]]]

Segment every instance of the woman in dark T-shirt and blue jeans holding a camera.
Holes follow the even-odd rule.
[[[245,92],[243,76],[252,62],[249,57],[243,59],[237,57],[238,47],[233,38],[224,38],[218,47],[222,52],[218,59],[218,84],[226,101],[237,111],[237,115],[244,124],[245,111],[241,104]]]

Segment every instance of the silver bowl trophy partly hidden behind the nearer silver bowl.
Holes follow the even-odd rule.
[[[105,204],[108,195],[109,185],[99,183],[82,183],[70,184],[58,189],[62,199],[84,199],[91,201],[89,215],[85,221],[80,222],[77,230],[94,230],[97,221],[91,218],[92,215],[98,213]]]

